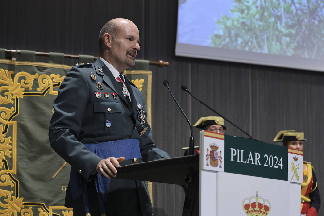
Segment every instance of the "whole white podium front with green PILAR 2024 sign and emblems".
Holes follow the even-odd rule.
[[[303,152],[201,131],[200,216],[300,215]]]

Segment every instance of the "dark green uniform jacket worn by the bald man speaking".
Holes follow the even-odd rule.
[[[90,76],[94,73],[96,79]],[[98,90],[100,82],[103,90]],[[89,181],[89,209],[99,211],[92,173],[97,163],[103,159],[90,152],[84,144],[100,143],[122,139],[138,139],[142,159],[125,160],[120,165],[140,163],[169,158],[168,153],[160,150],[152,141],[152,131],[145,121],[147,131],[143,132],[138,104],[145,109],[142,93],[133,83],[125,80],[131,95],[131,106],[122,94],[120,85],[108,67],[98,59],[93,64],[80,64],[71,68],[60,85],[59,93],[54,101],[54,114],[49,129],[49,140],[52,148],[75,170]],[[96,96],[100,92],[101,97]],[[103,93],[109,93],[104,97]],[[116,93],[114,99],[111,93]],[[110,127],[106,125],[110,122]],[[97,174],[97,173],[96,173]],[[95,175],[96,175],[95,174]],[[108,200],[105,210],[116,215],[152,215],[152,204],[147,186],[143,181],[112,178],[110,180]],[[82,197],[72,199],[68,186],[65,206],[83,209]]]

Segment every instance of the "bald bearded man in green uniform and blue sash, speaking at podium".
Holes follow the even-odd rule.
[[[71,68],[54,101],[49,139],[72,165],[65,206],[74,215],[152,215],[144,181],[114,178],[115,167],[169,158],[152,141],[142,93],[123,71],[140,50],[136,25],[108,21],[99,33],[100,58]]]

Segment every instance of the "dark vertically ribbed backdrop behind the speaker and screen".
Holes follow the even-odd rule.
[[[180,85],[261,141],[276,144],[272,140],[279,130],[304,131],[304,160],[315,167],[323,194],[324,73],[176,57],[177,10],[177,0],[0,0],[0,48],[98,56],[102,25],[116,17],[131,19],[141,37],[137,58],[170,63],[168,68],[150,66],[153,139],[161,149],[171,157],[181,156],[190,136],[186,120],[163,85],[168,79],[192,124],[214,114]],[[48,58],[36,57],[36,61],[48,62]],[[65,60],[69,65],[76,62]],[[226,126],[227,134],[244,135]],[[196,129],[194,137],[198,145]],[[154,183],[153,193],[155,216],[181,215],[182,188]],[[323,204],[319,215],[324,214]]]

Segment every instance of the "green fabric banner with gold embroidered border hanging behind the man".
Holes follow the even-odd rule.
[[[48,140],[53,101],[72,66],[0,59],[0,215],[62,215],[71,166]],[[151,71],[125,71],[151,119]]]

